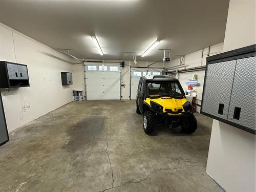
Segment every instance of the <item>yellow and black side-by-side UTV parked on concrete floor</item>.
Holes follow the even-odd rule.
[[[167,75],[140,78],[136,112],[143,114],[146,134],[151,134],[156,124],[167,124],[170,129],[181,126],[182,132],[189,134],[197,129],[195,110],[187,101],[179,80]]]

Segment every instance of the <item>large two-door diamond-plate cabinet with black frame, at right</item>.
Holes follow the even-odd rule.
[[[255,134],[255,45],[207,57],[201,113]]]

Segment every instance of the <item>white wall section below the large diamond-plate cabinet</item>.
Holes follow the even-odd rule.
[[[227,192],[255,192],[255,135],[214,119],[206,172]]]

